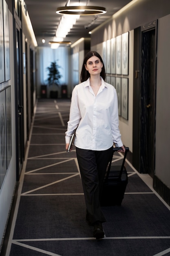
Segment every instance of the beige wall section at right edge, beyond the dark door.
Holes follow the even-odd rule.
[[[155,174],[170,187],[170,15],[158,20]]]

